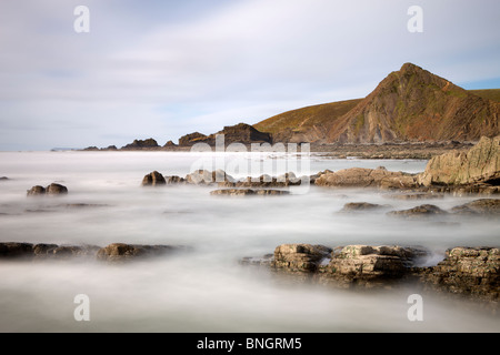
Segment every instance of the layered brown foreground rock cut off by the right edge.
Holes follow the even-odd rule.
[[[424,281],[434,288],[498,301],[500,295],[500,250],[454,247],[432,267]]]

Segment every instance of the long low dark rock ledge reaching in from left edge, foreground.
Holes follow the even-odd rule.
[[[103,262],[126,262],[144,257],[163,256],[186,250],[187,247],[177,245],[113,243],[101,247],[98,245],[57,245],[9,242],[0,243],[0,261],[97,260]]]

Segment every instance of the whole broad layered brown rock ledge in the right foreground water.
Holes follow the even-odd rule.
[[[406,282],[423,290],[460,294],[493,302],[500,296],[500,250],[496,247],[453,247],[436,266],[424,265],[430,256],[423,247],[399,245],[347,245],[329,247],[283,244],[262,258],[244,257],[241,264],[261,265],[340,288],[392,288]]]

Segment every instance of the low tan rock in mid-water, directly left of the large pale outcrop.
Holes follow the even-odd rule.
[[[403,172],[351,168],[337,172],[324,172],[316,179],[314,184],[330,187],[410,189],[417,186],[417,181],[413,175]]]

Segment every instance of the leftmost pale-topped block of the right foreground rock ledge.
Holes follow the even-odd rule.
[[[316,272],[321,261],[330,257],[331,252],[324,245],[283,244],[274,250],[271,265],[290,272]]]

